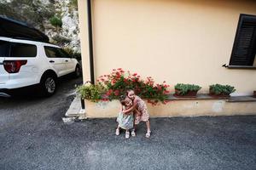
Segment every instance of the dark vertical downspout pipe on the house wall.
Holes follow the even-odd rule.
[[[93,58],[93,39],[91,22],[91,0],[87,0],[88,34],[89,34],[89,55],[90,55],[90,82],[95,84],[94,78],[94,58]]]

